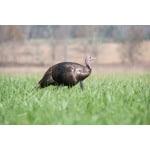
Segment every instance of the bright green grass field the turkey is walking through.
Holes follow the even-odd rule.
[[[150,124],[150,74],[93,75],[29,92],[40,75],[0,75],[0,124]]]

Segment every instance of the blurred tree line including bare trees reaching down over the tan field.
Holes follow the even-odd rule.
[[[148,25],[1,25],[0,43],[24,42],[30,39],[48,39],[53,51],[52,60],[56,58],[56,47],[63,45],[64,60],[67,60],[67,45],[71,40],[79,39],[84,52],[92,46],[92,53],[100,52],[98,44],[103,42],[121,43],[122,62],[135,63],[141,56],[143,41],[150,40]],[[15,44],[14,44],[15,45]],[[14,53],[15,60],[15,53]]]

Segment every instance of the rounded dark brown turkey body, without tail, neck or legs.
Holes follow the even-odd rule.
[[[63,62],[52,68],[54,81],[65,86],[74,86],[83,81],[91,73],[91,69],[77,63]]]

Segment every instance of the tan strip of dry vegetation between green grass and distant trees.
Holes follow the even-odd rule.
[[[0,46],[0,73],[40,73],[48,66],[61,61],[83,63],[87,54],[93,53],[91,44],[84,41],[71,41],[66,44],[67,57],[64,56],[63,43],[57,43],[55,49],[48,40],[31,40],[23,43],[5,43]],[[97,43],[95,72],[143,72],[150,71],[150,42],[142,42],[142,55],[134,64],[122,64],[120,51],[122,43]],[[146,49],[146,50],[145,50]],[[85,52],[86,51],[86,52]],[[55,52],[55,57],[52,55]],[[93,53],[94,55],[94,53]]]

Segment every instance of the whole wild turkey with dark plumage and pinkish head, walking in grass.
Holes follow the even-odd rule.
[[[63,85],[69,88],[80,83],[80,87],[83,89],[82,81],[91,74],[91,62],[94,59],[91,56],[86,57],[86,66],[74,62],[61,62],[50,67],[38,82],[37,88],[44,88],[49,85]]]

